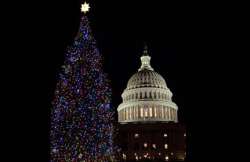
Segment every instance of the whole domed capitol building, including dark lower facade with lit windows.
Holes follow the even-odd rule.
[[[121,161],[184,161],[186,129],[164,78],[150,65],[145,47],[141,67],[128,81],[118,106]]]

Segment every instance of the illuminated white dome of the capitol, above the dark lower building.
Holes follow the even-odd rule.
[[[177,122],[177,105],[164,78],[150,65],[151,57],[145,47],[141,67],[128,81],[118,106],[118,121]]]

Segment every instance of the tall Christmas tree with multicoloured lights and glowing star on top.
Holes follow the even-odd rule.
[[[82,5],[82,12],[88,9],[88,4]],[[115,161],[110,102],[102,57],[83,15],[79,33],[66,49],[52,102],[50,161]]]

